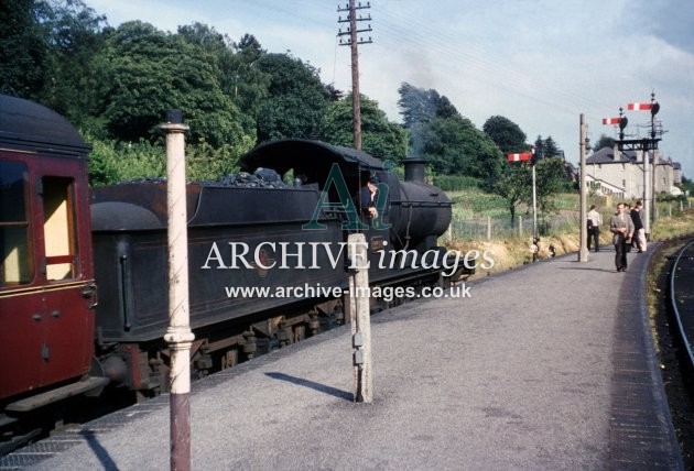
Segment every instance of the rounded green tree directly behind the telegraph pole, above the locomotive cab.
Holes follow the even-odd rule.
[[[334,101],[327,109],[322,139],[334,145],[351,147],[351,94]],[[408,133],[402,125],[388,121],[378,102],[361,96],[361,147],[381,158],[401,162],[408,153]]]

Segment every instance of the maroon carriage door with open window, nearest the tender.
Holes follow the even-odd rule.
[[[88,370],[94,314],[85,298],[86,282],[79,273],[75,180],[44,176],[40,193],[45,276],[41,380],[42,384],[48,384]]]

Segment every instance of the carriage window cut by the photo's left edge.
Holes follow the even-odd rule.
[[[26,284],[34,277],[28,189],[26,166],[0,162],[0,287]]]

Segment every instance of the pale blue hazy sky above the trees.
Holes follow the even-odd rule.
[[[291,53],[321,79],[351,89],[350,51],[339,45],[348,0],[85,0],[111,26],[140,20],[162,31],[199,22],[239,41],[252,34],[270,53]],[[359,1],[357,1],[359,3]],[[398,88],[435,89],[481,130],[502,116],[528,136],[552,139],[579,158],[579,116],[588,138],[617,138],[603,125],[629,119],[627,138],[650,131],[660,103],[664,157],[694,177],[694,1],[691,0],[366,0],[358,11],[359,88],[391,121],[402,122]],[[647,127],[648,124],[648,127]]]

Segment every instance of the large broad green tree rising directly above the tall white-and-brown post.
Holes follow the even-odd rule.
[[[221,90],[214,54],[185,35],[139,21],[123,23],[97,61],[98,114],[111,135],[151,139],[164,112],[175,108],[185,113],[192,142],[221,146],[249,141],[238,108]]]

